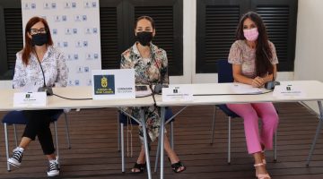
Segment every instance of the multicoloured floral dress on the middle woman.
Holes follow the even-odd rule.
[[[143,58],[136,43],[133,47],[127,49],[121,55],[120,68],[135,69],[135,84],[155,84],[155,83],[169,83],[167,72],[167,55],[162,48],[154,46],[152,43],[151,57]],[[125,107],[123,110],[131,114],[135,118],[139,118],[139,107]],[[147,132],[151,141],[159,135],[159,128],[161,125],[161,110],[160,107],[144,107],[144,115],[146,119]],[[143,140],[143,131],[139,127],[139,136]]]

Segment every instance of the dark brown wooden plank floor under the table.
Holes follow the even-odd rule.
[[[313,139],[317,116],[298,103],[275,104],[280,115],[278,129],[278,161],[267,151],[267,169],[276,179],[323,178],[323,142],[318,141],[310,167],[305,167]],[[179,107],[174,107],[178,111]],[[175,150],[188,167],[182,174],[174,174],[165,159],[165,178],[254,178],[253,160],[247,153],[243,123],[240,118],[232,123],[231,165],[227,165],[227,118],[222,112],[216,116],[214,145],[210,145],[211,121],[214,107],[188,107],[176,118]],[[4,112],[0,113],[0,117]],[[132,175],[134,158],[127,158],[127,172],[121,174],[121,160],[117,142],[117,110],[89,109],[68,114],[72,149],[67,149],[63,116],[58,122],[61,158],[59,178],[147,178],[146,174]],[[19,135],[23,126],[18,127]],[[45,178],[48,166],[38,141],[32,142],[24,153],[22,166],[6,171],[4,128],[0,127],[0,178]],[[169,131],[169,130],[168,130]],[[13,129],[10,127],[10,149],[14,148]],[[137,127],[133,129],[134,156],[138,154]],[[127,133],[125,133],[127,136]],[[129,138],[130,139],[130,138]],[[127,141],[127,139],[126,139]],[[156,142],[151,152],[152,166]],[[127,143],[126,143],[127,147]],[[153,174],[158,178],[159,174]]]

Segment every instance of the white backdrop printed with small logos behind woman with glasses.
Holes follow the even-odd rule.
[[[23,31],[33,16],[48,21],[55,47],[65,53],[68,85],[92,85],[92,69],[101,69],[99,0],[22,0]]]

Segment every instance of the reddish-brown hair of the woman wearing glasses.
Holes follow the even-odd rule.
[[[45,29],[47,30],[47,33],[46,33],[48,35],[48,43],[47,43],[47,45],[48,46],[53,45],[53,40],[52,40],[51,35],[50,35],[48,22],[44,18],[41,18],[41,17],[32,17],[30,19],[30,21],[27,22],[26,28],[25,28],[25,31],[24,31],[25,46],[22,49],[22,62],[23,62],[23,64],[26,64],[26,65],[28,64],[28,61],[29,61],[29,58],[30,58],[31,52],[32,52],[31,38],[28,37],[28,33],[31,30],[31,27],[33,25],[35,25],[36,23],[38,23],[39,21],[41,21],[44,24]]]

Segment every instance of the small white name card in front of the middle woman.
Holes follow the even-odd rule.
[[[162,101],[192,101],[193,90],[188,85],[172,86],[162,88]]]

